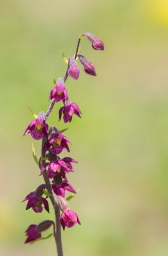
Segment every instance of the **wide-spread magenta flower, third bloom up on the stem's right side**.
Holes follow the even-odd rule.
[[[56,173],[60,173],[62,177],[65,177],[65,172],[71,172],[67,164],[60,159],[52,163],[45,163],[41,168],[41,174],[45,172],[46,167],[48,167],[47,176],[50,179],[55,177]]]

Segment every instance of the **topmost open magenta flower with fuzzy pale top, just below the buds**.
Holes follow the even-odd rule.
[[[62,78],[59,78],[57,80],[56,86],[54,86],[50,92],[50,101],[52,99],[55,99],[56,102],[59,102],[60,100],[66,100],[66,98],[67,90],[64,84],[64,80]]]

